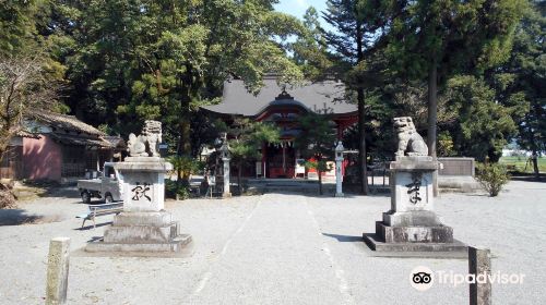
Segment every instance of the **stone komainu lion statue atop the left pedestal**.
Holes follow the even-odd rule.
[[[127,150],[131,157],[159,157],[157,144],[162,142],[162,123],[157,121],[145,121],[142,134],[129,135]]]

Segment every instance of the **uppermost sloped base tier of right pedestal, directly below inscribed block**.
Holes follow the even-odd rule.
[[[390,227],[438,227],[440,218],[431,210],[383,212],[383,222]]]

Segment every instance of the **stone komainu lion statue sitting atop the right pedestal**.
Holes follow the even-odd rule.
[[[415,130],[412,118],[394,118],[394,129],[399,136],[399,149],[395,156],[427,156],[428,147]]]

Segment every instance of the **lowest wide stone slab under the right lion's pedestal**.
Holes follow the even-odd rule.
[[[377,234],[363,234],[363,237],[368,247],[377,253],[377,256],[467,257],[467,245],[458,240],[453,240],[451,243],[385,243]]]

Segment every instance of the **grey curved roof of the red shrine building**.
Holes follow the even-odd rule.
[[[275,76],[265,76],[263,83],[264,87],[259,95],[254,96],[247,91],[242,81],[226,81],[222,102],[202,108],[223,114],[256,115],[275,101],[275,97],[283,91]],[[345,101],[345,86],[334,81],[309,83],[302,87],[286,88],[286,91],[294,97],[295,103],[313,111],[323,112],[327,108],[330,113],[342,114],[355,112],[358,109],[356,105]]]

